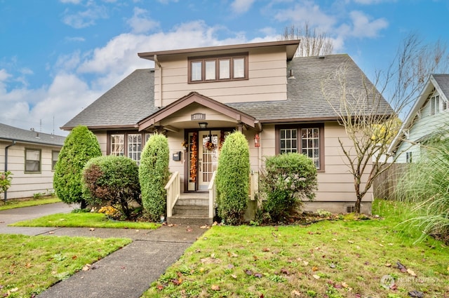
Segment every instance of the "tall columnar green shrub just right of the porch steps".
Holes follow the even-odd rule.
[[[250,151],[242,133],[234,132],[226,137],[215,179],[218,215],[226,224],[241,224],[250,187]]]

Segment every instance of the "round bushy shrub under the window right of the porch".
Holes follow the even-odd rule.
[[[293,215],[304,200],[313,200],[316,168],[310,158],[298,153],[280,154],[265,159],[260,175],[264,212],[273,222]]]

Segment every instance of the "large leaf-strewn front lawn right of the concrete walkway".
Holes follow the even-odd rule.
[[[404,214],[395,203],[376,201],[373,212],[384,218],[213,226],[143,297],[448,296],[449,248],[431,238],[414,245],[420,232],[398,226]],[[382,287],[382,276],[396,290]]]

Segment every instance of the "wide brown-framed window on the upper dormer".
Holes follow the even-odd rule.
[[[189,58],[189,83],[244,79],[248,79],[248,53]]]

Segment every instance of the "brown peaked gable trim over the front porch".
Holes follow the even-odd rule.
[[[222,104],[221,102],[217,102],[216,100],[213,100],[210,97],[201,95],[193,91],[185,95],[184,97],[181,97],[179,100],[176,100],[171,104],[168,104],[168,106],[164,107],[163,109],[156,111],[156,113],[146,118],[143,118],[141,121],[138,122],[139,131],[154,126],[154,124],[158,123],[159,121],[162,121],[164,118],[194,103],[201,104],[203,107],[207,107],[209,109],[213,109],[214,111],[218,111],[221,114],[224,114],[225,116],[235,119],[236,122],[238,123],[243,123],[246,126],[249,126],[250,128],[261,130],[260,122],[257,121],[257,119],[254,118],[253,116],[245,114],[237,109],[227,106],[226,104]]]

